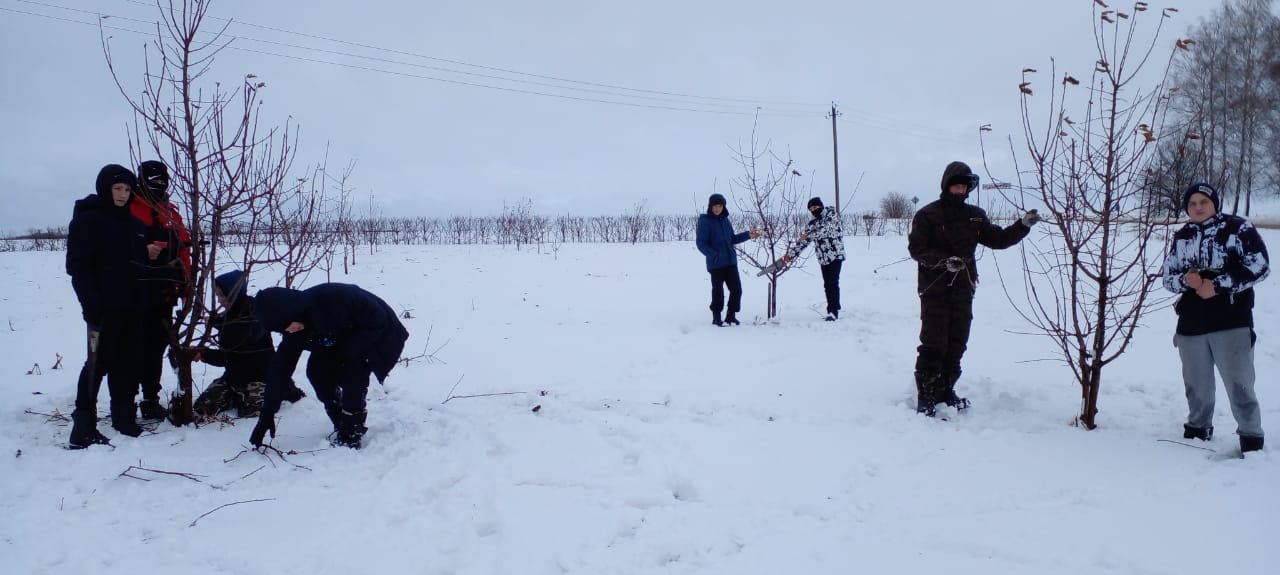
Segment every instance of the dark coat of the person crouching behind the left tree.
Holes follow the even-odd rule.
[[[223,380],[236,387],[266,382],[275,344],[253,316],[253,297],[232,300],[227,314],[210,323],[218,328],[218,348],[201,352],[205,362],[225,368]]]

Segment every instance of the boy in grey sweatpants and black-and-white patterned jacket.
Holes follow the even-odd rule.
[[[1240,452],[1262,449],[1262,412],[1253,393],[1253,286],[1271,273],[1267,246],[1248,220],[1221,214],[1217,190],[1196,183],[1183,193],[1190,222],[1174,233],[1165,288],[1178,293],[1174,344],[1183,361],[1187,423],[1183,437],[1213,437],[1216,383],[1222,375]]]

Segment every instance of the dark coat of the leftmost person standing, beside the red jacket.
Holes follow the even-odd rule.
[[[67,274],[84,321],[93,325],[108,312],[134,314],[143,306],[146,231],[128,204],[111,202],[114,182],[137,186],[127,168],[102,168],[96,193],[76,201],[67,233]]]

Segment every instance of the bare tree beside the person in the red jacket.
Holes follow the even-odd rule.
[[[209,5],[210,0],[157,4],[156,36],[143,47],[140,91],[127,88],[116,73],[111,38],[100,28],[108,68],[136,117],[131,152],[155,155],[169,165],[170,197],[184,210],[192,237],[192,277],[170,333],[169,359],[179,385],[170,401],[170,419],[177,425],[193,420],[192,353],[186,350],[206,337],[200,325],[221,234],[236,218],[268,210],[271,198],[287,187],[296,142],[288,124],[260,124],[259,92],[266,85],[253,74],[244,74],[229,92],[219,83],[209,87],[204,82],[218,54],[230,44],[223,35],[225,28],[204,29]]]

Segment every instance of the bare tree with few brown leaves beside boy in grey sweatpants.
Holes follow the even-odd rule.
[[[1140,88],[1135,78],[1171,10],[1161,13],[1149,40],[1139,40],[1144,3],[1133,12],[1098,12],[1097,4],[1097,61],[1083,95],[1073,90],[1080,81],[1051,70],[1047,122],[1038,122],[1030,79],[1037,72],[1023,70],[1023,136],[1033,179],[1025,182],[1018,168],[1018,186],[1001,191],[1019,210],[1030,207],[1032,197],[1046,211],[1047,233],[1023,242],[1025,300],[1016,301],[1007,286],[1006,295],[1070,366],[1082,392],[1078,423],[1087,429],[1097,425],[1102,370],[1129,347],[1160,279],[1162,245],[1156,232],[1164,222],[1143,209],[1142,191],[1152,177],[1151,147],[1164,137],[1165,76],[1176,51],[1171,49],[1160,83]]]

